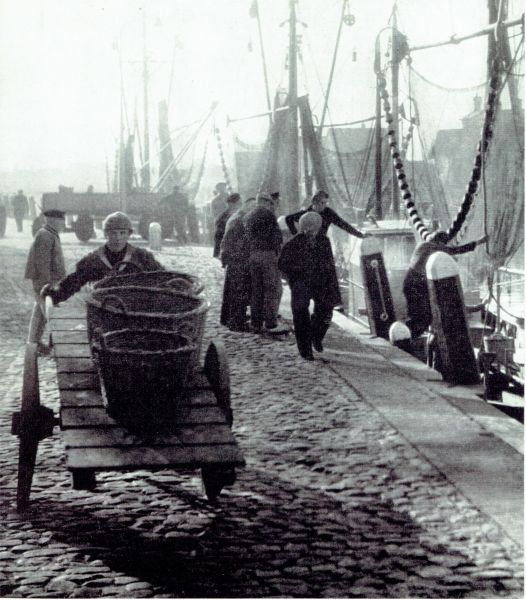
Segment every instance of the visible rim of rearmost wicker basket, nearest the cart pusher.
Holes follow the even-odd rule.
[[[95,289],[136,285],[139,287],[164,288],[176,292],[199,295],[204,285],[195,275],[177,271],[140,271],[126,275],[114,274],[94,284]]]

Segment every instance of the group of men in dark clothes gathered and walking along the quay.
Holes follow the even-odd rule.
[[[322,192],[319,210],[323,210],[326,197]],[[220,321],[232,331],[288,331],[279,320],[284,278],[291,291],[299,354],[312,361],[313,350],[323,352],[322,342],[337,304],[328,293],[334,269],[332,254],[327,255],[326,236],[321,233],[323,218],[317,210],[291,215],[298,220],[289,226],[293,237],[284,242],[276,218],[278,206],[278,192],[260,193],[244,202],[237,193],[228,196],[227,208],[216,221],[214,245],[214,256],[225,268]]]

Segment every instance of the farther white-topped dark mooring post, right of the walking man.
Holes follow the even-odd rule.
[[[373,237],[365,238],[362,240],[360,253],[369,327],[373,335],[388,340],[395,312],[380,243]]]

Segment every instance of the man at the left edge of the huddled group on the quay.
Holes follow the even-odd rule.
[[[247,198],[228,219],[221,241],[221,262],[225,267],[225,284],[220,322],[231,331],[248,331],[247,308],[250,305],[249,247],[245,217],[255,198]]]

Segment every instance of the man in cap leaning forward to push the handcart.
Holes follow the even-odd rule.
[[[154,255],[143,248],[128,243],[133,226],[128,215],[115,212],[103,222],[106,243],[90,252],[77,263],[75,271],[54,285],[46,285],[41,296],[50,296],[53,304],[63,302],[78,292],[83,285],[98,281],[118,271],[119,273],[159,271],[164,267],[155,260]],[[133,265],[130,269],[128,265]]]

